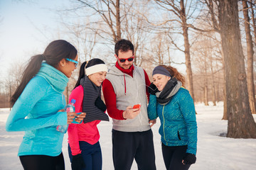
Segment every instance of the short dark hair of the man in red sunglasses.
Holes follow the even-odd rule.
[[[121,39],[118,40],[114,45],[114,53],[118,56],[118,52],[127,52],[128,50],[132,50],[132,55],[134,54],[134,45],[131,41]]]

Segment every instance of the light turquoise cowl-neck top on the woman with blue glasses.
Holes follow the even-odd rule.
[[[66,105],[63,91],[67,83],[68,77],[46,62],[28,82],[6,122],[6,131],[25,131],[18,156],[61,153],[64,134],[56,127],[67,124],[67,113],[58,112]]]

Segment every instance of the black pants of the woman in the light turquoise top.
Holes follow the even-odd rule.
[[[63,153],[57,157],[46,155],[20,156],[24,170],[65,170]]]

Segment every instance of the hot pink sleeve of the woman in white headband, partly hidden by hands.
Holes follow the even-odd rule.
[[[75,99],[75,113],[82,111],[82,99],[83,99],[83,89],[82,86],[76,87],[70,94],[68,101]],[[80,154],[79,138],[78,138],[78,128],[77,124],[71,123],[68,125],[68,143],[71,148],[71,153],[73,156]]]

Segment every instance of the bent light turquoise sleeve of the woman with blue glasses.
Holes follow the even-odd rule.
[[[48,88],[50,88],[48,84],[31,79],[11,110],[6,121],[6,131],[36,130],[52,125],[67,124],[67,113],[65,112],[54,113],[47,117],[26,118],[33,111],[36,103],[46,97]]]

